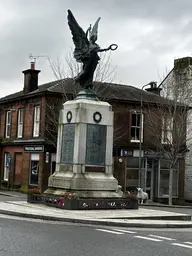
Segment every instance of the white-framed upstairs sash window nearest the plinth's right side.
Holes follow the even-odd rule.
[[[131,118],[131,142],[143,141],[143,115],[132,113]]]

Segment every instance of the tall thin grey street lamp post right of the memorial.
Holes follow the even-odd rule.
[[[145,175],[143,177],[143,182],[142,182],[142,137],[143,137],[143,89],[150,85],[153,87],[154,83],[156,82],[150,82],[148,84],[145,84],[141,88],[141,94],[140,94],[140,134],[139,134],[139,187],[144,187],[145,191]]]

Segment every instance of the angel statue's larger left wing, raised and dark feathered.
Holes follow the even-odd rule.
[[[82,58],[89,55],[89,41],[70,10],[67,19],[75,45],[74,57],[77,62],[81,62]]]

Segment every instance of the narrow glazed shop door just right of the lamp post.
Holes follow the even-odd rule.
[[[147,159],[146,166],[146,192],[149,196],[149,200],[153,198],[153,159]]]

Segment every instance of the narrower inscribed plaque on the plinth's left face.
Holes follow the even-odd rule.
[[[64,124],[61,147],[61,163],[73,163],[75,124]]]

